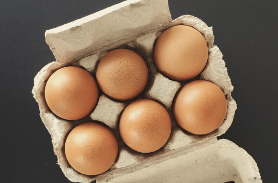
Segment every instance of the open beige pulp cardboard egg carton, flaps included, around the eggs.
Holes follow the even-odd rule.
[[[171,105],[176,91],[186,82],[167,79],[158,72],[153,61],[153,48],[159,35],[169,27],[188,25],[205,38],[208,63],[196,79],[215,83],[227,101],[223,123],[206,135],[194,135],[175,122]],[[217,140],[231,125],[236,102],[231,97],[233,85],[218,47],[213,44],[212,27],[202,20],[184,15],[172,21],[167,0],[128,0],[100,12],[47,30],[45,38],[56,62],[44,66],[34,78],[32,94],[39,105],[40,117],[51,134],[54,152],[65,176],[73,182],[262,182],[253,158],[228,140]],[[87,117],[68,121],[51,112],[44,98],[47,80],[56,70],[66,66],[86,69],[94,77],[101,58],[114,49],[133,50],[146,61],[149,82],[137,98],[118,102],[101,93],[96,109]],[[168,142],[153,153],[138,153],[122,141],[118,121],[123,109],[138,99],[152,99],[168,110],[172,131]],[[116,135],[119,154],[115,164],[105,173],[89,176],[75,171],[65,156],[65,140],[78,124],[98,120],[107,124]]]

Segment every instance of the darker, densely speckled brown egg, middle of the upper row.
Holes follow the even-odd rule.
[[[118,49],[106,54],[97,67],[97,81],[101,90],[115,100],[137,97],[148,82],[145,61],[131,50]]]

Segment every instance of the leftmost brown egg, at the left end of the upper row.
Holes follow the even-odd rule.
[[[63,67],[45,85],[45,100],[57,116],[77,120],[89,115],[99,99],[94,77],[79,67]]]

